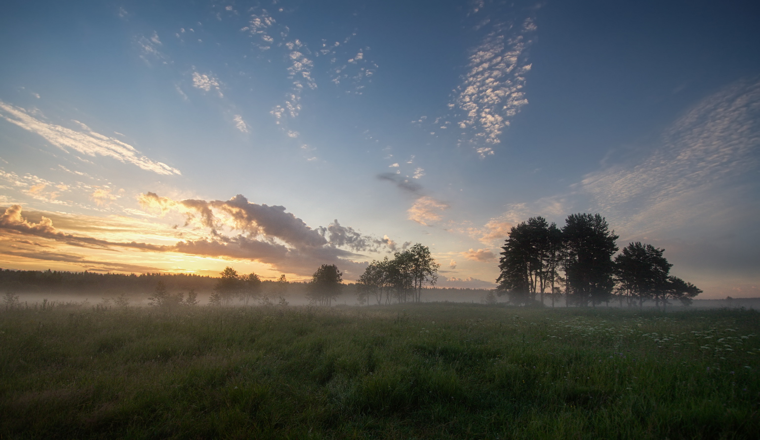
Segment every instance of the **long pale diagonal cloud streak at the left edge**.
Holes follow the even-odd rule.
[[[71,130],[60,125],[49,124],[30,115],[30,112],[24,108],[15,107],[2,101],[0,101],[0,117],[11,122],[11,124],[24,128],[24,130],[39,134],[49,143],[64,151],[73,150],[91,157],[110,157],[157,174],[182,174],[178,169],[165,163],[142,156],[135,147],[128,143],[96,133],[81,123],[81,130]]]

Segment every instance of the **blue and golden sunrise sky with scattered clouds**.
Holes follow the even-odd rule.
[[[345,281],[600,213],[760,297],[757,2],[14,2],[0,267]]]

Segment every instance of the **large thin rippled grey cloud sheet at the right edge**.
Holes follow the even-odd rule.
[[[678,228],[699,218],[712,218],[714,228],[731,211],[746,210],[737,205],[742,196],[756,200],[742,176],[758,169],[758,145],[760,82],[740,80],[695,105],[638,165],[587,174],[575,187],[625,231]]]

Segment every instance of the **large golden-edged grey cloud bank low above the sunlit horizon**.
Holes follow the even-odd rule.
[[[153,206],[164,213],[175,211],[187,215],[188,225],[192,224],[196,228],[189,231],[173,230],[173,233],[178,237],[185,234],[188,237],[166,245],[103,240],[102,238],[59,231],[46,215],[41,216],[39,222],[30,222],[22,216],[21,206],[14,205],[6,209],[5,214],[0,216],[0,236],[9,237],[17,243],[21,243],[20,240],[28,240],[26,237],[40,237],[61,244],[99,251],[135,249],[154,253],[185,253],[201,257],[249,259],[271,265],[280,272],[302,276],[312,275],[321,264],[336,264],[344,271],[347,279],[358,277],[366,267],[366,262],[353,261],[353,259],[364,259],[364,257],[350,250],[340,249],[338,246],[347,247],[351,250],[374,250],[381,247],[395,249],[393,240],[387,236],[383,239],[369,237],[359,234],[353,228],[341,226],[337,222],[328,228],[315,230],[303,224],[293,214],[285,212],[282,206],[257,205],[249,203],[242,196],[236,196],[224,202],[219,200],[176,201],[168,197],[157,196],[155,193],[146,193],[142,195],[141,201],[144,205]],[[71,217],[68,222],[74,227],[80,228],[81,231],[87,229],[81,228],[81,218]],[[130,231],[128,228],[130,222],[135,225],[144,222],[145,230],[143,232]],[[116,228],[122,228],[117,233],[118,237],[123,237],[125,234],[142,235],[149,240],[162,241],[174,238],[171,237],[171,234],[162,236],[158,232],[160,227],[153,224],[153,228],[150,228],[151,224],[147,221],[129,219],[129,222],[122,223],[123,225],[120,226],[114,225]],[[206,231],[198,230],[198,225],[201,225]],[[223,231],[224,228],[238,231],[238,233],[228,234]],[[150,232],[151,229],[155,232]],[[95,225],[90,228],[91,233],[100,235],[109,230],[113,230],[113,228],[103,228],[103,225]],[[321,235],[319,230],[324,230],[325,236]],[[7,240],[0,240],[0,244],[4,241],[7,242]],[[50,259],[51,261],[83,263],[83,260],[78,256],[62,259],[52,255],[52,253],[45,255],[39,251],[35,252],[35,256],[29,252],[26,256]],[[120,253],[119,255],[128,254]],[[19,256],[21,255],[19,254]]]

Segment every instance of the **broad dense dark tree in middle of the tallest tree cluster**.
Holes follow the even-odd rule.
[[[565,298],[578,306],[609,300],[615,282],[613,254],[619,238],[599,214],[571,214],[562,228]]]

